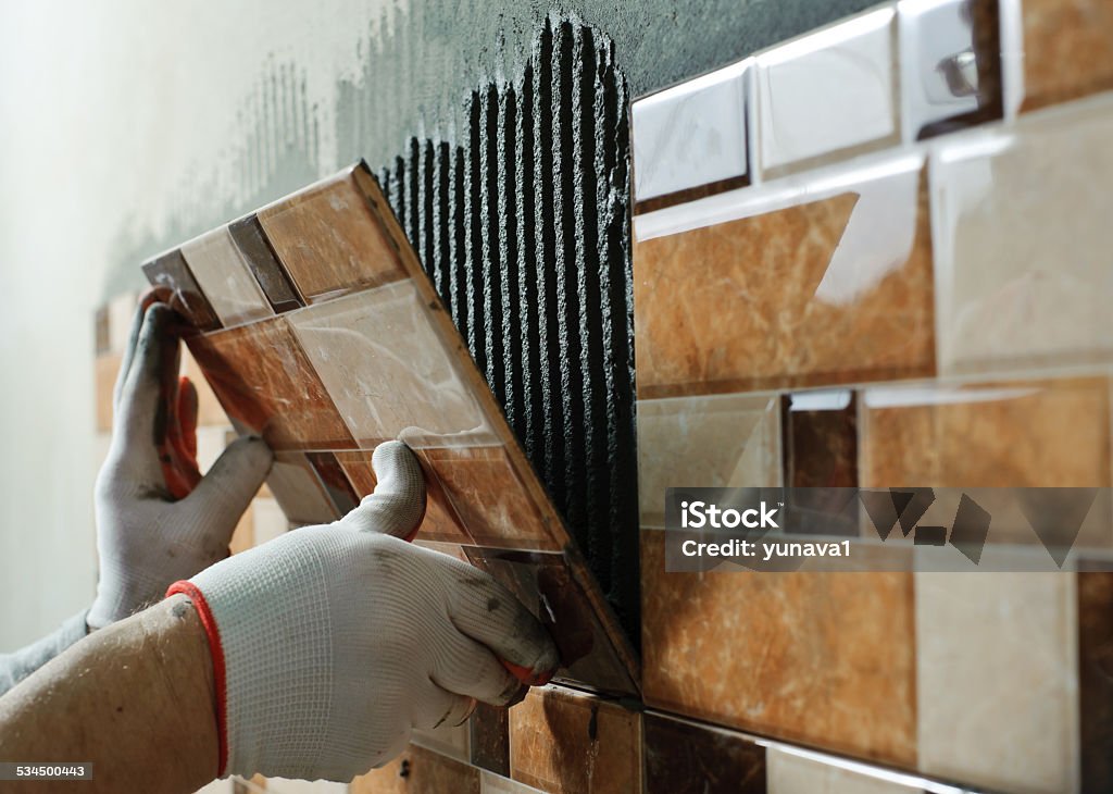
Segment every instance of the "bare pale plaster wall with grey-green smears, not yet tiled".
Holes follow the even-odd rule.
[[[867,4],[0,4],[0,647],[91,598],[91,317],[142,257],[357,157],[466,143],[549,14],[613,41],[638,96]]]

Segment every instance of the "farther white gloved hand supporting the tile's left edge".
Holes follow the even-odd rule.
[[[95,494],[100,579],[90,629],[160,600],[171,582],[227,557],[270,469],[262,439],[238,439],[200,478],[197,392],[178,380],[176,322],[167,305],[145,301],[116,382],[112,443]]]

